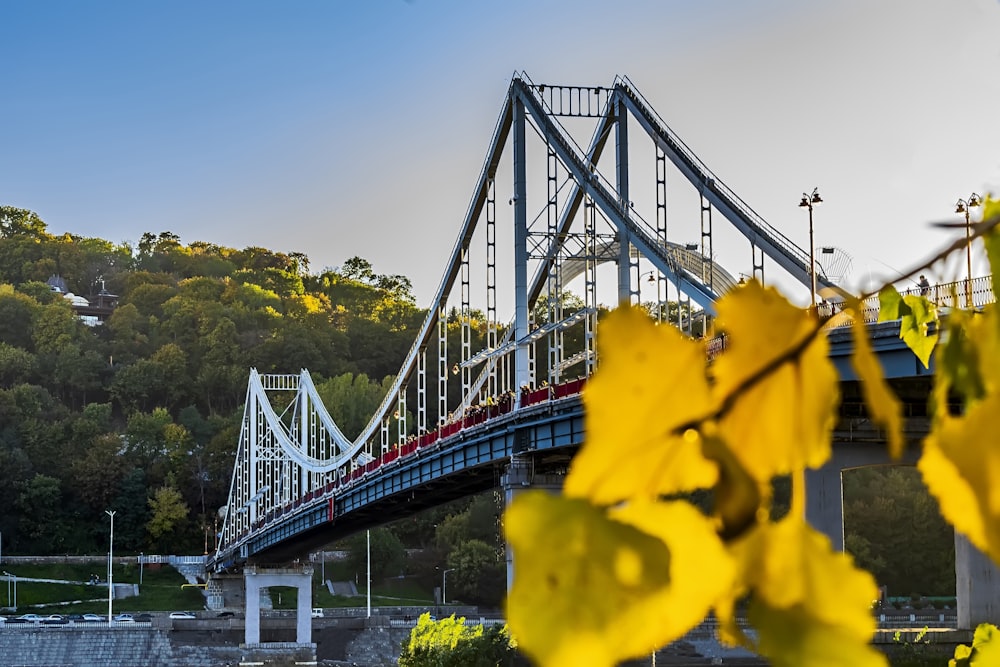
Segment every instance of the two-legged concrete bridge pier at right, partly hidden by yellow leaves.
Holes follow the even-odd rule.
[[[908,448],[891,461],[881,443],[836,442],[833,456],[818,470],[806,471],[806,520],[844,550],[844,470],[872,465],[915,465],[919,452]],[[974,629],[1000,620],[1000,569],[988,556],[955,533],[955,603],[958,627]]]

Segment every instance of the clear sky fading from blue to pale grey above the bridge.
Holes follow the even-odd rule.
[[[515,71],[627,75],[803,248],[818,186],[816,243],[861,287],[960,233],[927,225],[956,199],[1000,192],[997,0],[3,0],[0,29],[0,203],[313,271],[360,255],[421,305]],[[716,251],[750,271],[745,242]]]

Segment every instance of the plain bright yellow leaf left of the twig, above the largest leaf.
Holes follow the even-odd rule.
[[[711,486],[716,467],[697,434],[676,433],[709,412],[704,346],[634,308],[611,313],[597,333],[601,366],[583,392],[587,439],[566,495],[609,505]]]

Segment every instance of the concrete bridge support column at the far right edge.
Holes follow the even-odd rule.
[[[955,533],[955,604],[961,630],[1000,618],[1000,569],[961,533]]]

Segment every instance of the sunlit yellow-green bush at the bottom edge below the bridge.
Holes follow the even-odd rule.
[[[399,667],[506,667],[515,647],[506,626],[467,626],[464,618],[435,621],[421,614],[403,642]]]

